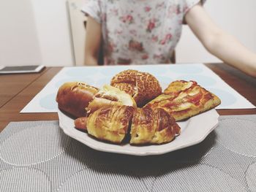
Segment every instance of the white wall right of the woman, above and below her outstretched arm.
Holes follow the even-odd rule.
[[[256,53],[255,0],[207,0],[204,7],[219,26]],[[219,61],[204,49],[188,26],[184,26],[176,57],[179,63]]]

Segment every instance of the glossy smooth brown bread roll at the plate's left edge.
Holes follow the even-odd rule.
[[[56,101],[60,110],[75,118],[86,116],[86,107],[99,91],[85,82],[65,82],[59,88]]]

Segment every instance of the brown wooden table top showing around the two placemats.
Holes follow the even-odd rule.
[[[226,64],[206,64],[222,80],[256,105],[256,79]],[[0,131],[11,121],[58,120],[57,113],[20,113],[20,110],[61,70],[47,67],[38,74],[0,75]],[[256,109],[217,110],[219,115],[256,114]]]

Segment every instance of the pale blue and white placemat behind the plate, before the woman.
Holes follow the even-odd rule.
[[[110,84],[111,78],[125,69],[149,72],[157,77],[162,90],[174,80],[195,80],[222,100],[217,109],[255,108],[217,74],[203,64],[164,64],[146,66],[83,66],[64,67],[52,80],[24,107],[21,112],[57,112],[56,93],[64,82],[81,81],[95,87]]]

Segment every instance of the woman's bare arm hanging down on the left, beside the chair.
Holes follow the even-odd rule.
[[[100,42],[102,37],[101,25],[91,17],[86,23],[85,65],[97,65]]]

